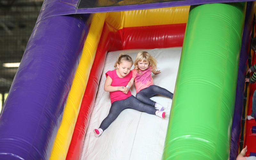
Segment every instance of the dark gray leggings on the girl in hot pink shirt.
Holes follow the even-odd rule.
[[[101,122],[100,128],[104,131],[116,119],[116,117],[126,108],[132,108],[141,112],[155,115],[157,109],[142,103],[133,95],[125,100],[117,100],[111,104],[108,116]]]

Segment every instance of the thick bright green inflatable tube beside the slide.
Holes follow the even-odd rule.
[[[245,7],[191,6],[162,159],[229,158]]]

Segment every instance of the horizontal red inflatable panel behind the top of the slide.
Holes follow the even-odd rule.
[[[119,29],[122,50],[181,47],[186,23]]]

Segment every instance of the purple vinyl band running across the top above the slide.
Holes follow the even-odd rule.
[[[39,20],[53,15],[68,15],[78,13],[98,13],[98,12],[114,12],[114,11],[129,11],[139,9],[163,8],[184,5],[197,5],[209,3],[231,3],[231,2],[249,2],[254,0],[183,0],[175,2],[162,2],[151,4],[135,4],[125,6],[112,6],[100,8],[76,9],[79,0],[44,0],[42,10],[39,14]],[[43,16],[40,16],[43,15]]]

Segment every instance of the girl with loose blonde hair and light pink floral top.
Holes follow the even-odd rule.
[[[156,94],[173,98],[173,93],[168,90],[153,84],[153,74],[161,73],[160,70],[156,70],[157,61],[148,52],[139,52],[136,56],[134,66],[132,70],[132,79],[128,83],[127,88],[130,89],[133,82],[136,87],[136,98],[141,102],[155,107],[156,109],[163,111],[164,107],[153,100],[150,100]]]

